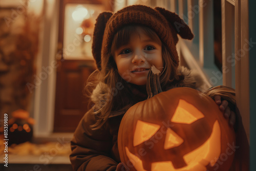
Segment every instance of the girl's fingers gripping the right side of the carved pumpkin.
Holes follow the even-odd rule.
[[[236,114],[230,110],[227,100],[221,101],[221,96],[219,95],[214,98],[215,102],[219,105],[220,110],[224,112],[224,117],[229,118],[229,124],[233,126],[234,122],[236,122]]]

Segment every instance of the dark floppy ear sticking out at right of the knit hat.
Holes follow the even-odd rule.
[[[179,34],[182,38],[189,39],[189,40],[193,39],[194,34],[191,32],[190,28],[186,25],[184,20],[179,17],[179,15],[160,7],[156,7],[155,10],[160,12],[165,17],[165,19],[169,22],[170,26],[172,26],[172,30],[175,30],[176,33]],[[176,34],[176,37],[177,37],[177,34]],[[178,42],[178,37],[177,37],[177,42]],[[175,44],[177,42],[175,42]]]

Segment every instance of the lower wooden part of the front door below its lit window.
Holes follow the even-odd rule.
[[[95,70],[94,61],[59,60],[58,64],[54,132],[73,132],[88,109],[83,89]]]

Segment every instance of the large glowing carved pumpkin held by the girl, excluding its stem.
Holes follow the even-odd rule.
[[[130,170],[228,170],[234,131],[210,97],[175,88],[132,106],[118,133]]]

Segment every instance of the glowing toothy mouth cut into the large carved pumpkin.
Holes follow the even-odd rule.
[[[210,151],[211,146],[217,146],[216,149]],[[151,170],[177,170],[177,171],[186,171],[186,170],[205,170],[206,165],[210,163],[211,166],[214,166],[217,162],[216,159],[219,158],[221,151],[221,131],[220,125],[218,121],[215,121],[214,127],[212,129],[212,133],[209,139],[200,147],[196,148],[194,151],[189,152],[188,154],[184,155],[183,159],[186,162],[187,166],[182,168],[174,168],[172,161],[161,161],[161,162],[154,162],[152,163]],[[136,155],[132,154],[127,147],[125,147],[125,151],[129,160],[133,163],[134,167],[137,170],[146,171],[143,168],[142,161]],[[202,155],[203,154],[203,155]]]

